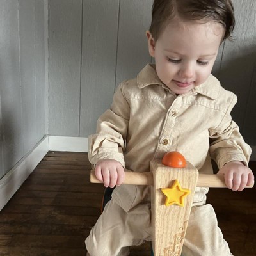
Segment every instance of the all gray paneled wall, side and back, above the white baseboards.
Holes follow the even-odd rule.
[[[145,37],[152,0],[0,0],[0,4],[2,177],[48,129],[51,135],[81,137],[95,131],[118,83],[152,61]],[[235,41],[221,46],[214,74],[239,96],[234,120],[246,141],[256,145],[256,1],[235,0],[234,5]],[[45,45],[47,12],[49,45]]]

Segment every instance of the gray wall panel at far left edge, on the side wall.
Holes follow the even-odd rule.
[[[18,1],[1,1],[0,28],[0,93],[3,125],[1,144],[5,173],[23,156]]]

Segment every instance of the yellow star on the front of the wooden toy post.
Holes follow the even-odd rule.
[[[177,204],[184,207],[184,198],[190,194],[189,189],[180,187],[178,180],[175,180],[171,188],[161,188],[161,190],[166,195],[166,206]]]

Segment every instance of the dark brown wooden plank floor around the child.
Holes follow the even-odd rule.
[[[251,165],[256,170],[256,162]],[[90,184],[89,170],[85,153],[49,152],[0,212],[0,255],[86,255],[84,239],[100,214],[104,191]],[[209,192],[235,256],[256,255],[255,197],[255,188]],[[133,247],[131,255],[149,256],[150,245]]]

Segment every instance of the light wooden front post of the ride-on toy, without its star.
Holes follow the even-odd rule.
[[[188,225],[193,195],[198,179],[198,170],[187,164],[185,168],[170,168],[161,164],[161,160],[152,160],[150,170],[154,176],[151,189],[152,246],[155,255],[180,256]],[[164,205],[165,196],[161,188],[170,188],[178,180],[181,188],[189,189],[184,206]]]

